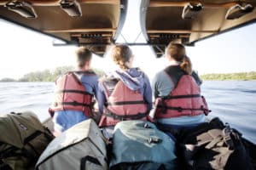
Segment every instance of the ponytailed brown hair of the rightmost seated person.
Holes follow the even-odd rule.
[[[166,47],[166,54],[170,55],[172,59],[182,62],[180,66],[183,71],[192,74],[192,64],[189,57],[186,56],[186,50],[183,44],[170,42]]]

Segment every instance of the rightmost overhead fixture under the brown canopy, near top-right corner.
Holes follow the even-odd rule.
[[[241,6],[240,4],[236,4],[229,8],[225,19],[226,20],[235,20],[240,18],[241,16],[253,12],[253,5],[246,4]]]

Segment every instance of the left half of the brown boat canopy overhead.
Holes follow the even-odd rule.
[[[103,55],[125,22],[127,0],[0,0],[0,18]]]

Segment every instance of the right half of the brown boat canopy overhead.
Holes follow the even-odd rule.
[[[255,0],[145,0],[140,22],[160,57],[168,42],[195,42],[256,21]]]

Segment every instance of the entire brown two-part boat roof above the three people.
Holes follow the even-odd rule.
[[[0,18],[103,56],[125,23],[128,0],[0,0]],[[256,21],[256,0],[142,0],[140,23],[160,57],[169,42],[193,46]],[[129,43],[128,43],[129,44]],[[131,44],[137,45],[137,43]]]

